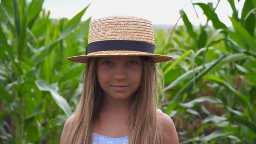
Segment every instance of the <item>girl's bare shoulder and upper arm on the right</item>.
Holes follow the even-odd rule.
[[[163,112],[157,112],[157,117],[162,126],[163,144],[179,144],[176,128],[171,117]]]

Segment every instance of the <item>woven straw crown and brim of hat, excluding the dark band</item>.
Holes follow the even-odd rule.
[[[136,40],[155,44],[151,21],[135,16],[107,16],[90,22],[88,44],[103,40]],[[141,51],[98,51],[88,55],[72,56],[69,61],[87,63],[87,58],[103,56],[151,56],[155,62],[169,61],[162,56]]]

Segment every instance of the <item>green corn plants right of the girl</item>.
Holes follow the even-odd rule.
[[[219,1],[214,8],[212,3],[192,3],[203,10],[205,25],[193,27],[181,10],[184,26],[176,28],[171,41],[167,32],[156,35],[163,37],[156,40],[161,42],[158,53],[175,58],[160,67],[165,113],[178,121],[182,143],[256,142],[256,3],[245,0],[239,17],[234,0],[228,2],[233,27],[215,13]]]

